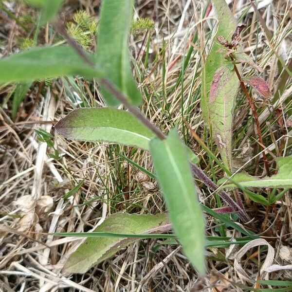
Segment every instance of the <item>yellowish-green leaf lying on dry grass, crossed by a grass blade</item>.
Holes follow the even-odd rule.
[[[116,213],[99,225],[95,232],[110,232],[123,234],[159,233],[169,222],[165,214],[137,215]],[[121,248],[128,246],[137,238],[104,237],[88,238],[69,256],[63,272],[86,273],[92,266],[110,258]]]

